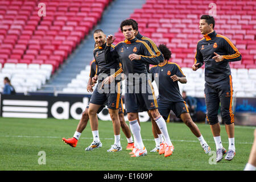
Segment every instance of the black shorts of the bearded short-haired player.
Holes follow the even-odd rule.
[[[117,89],[114,90],[114,92],[109,91],[108,93],[103,92],[103,90],[100,90],[100,92],[98,92],[98,89],[100,89],[100,85],[101,84],[98,84],[96,86],[96,89],[94,90],[92,97],[90,98],[90,103],[96,105],[104,105],[104,103],[106,102],[106,105],[109,109],[118,109],[119,103],[121,103],[122,83],[117,82],[115,84]]]

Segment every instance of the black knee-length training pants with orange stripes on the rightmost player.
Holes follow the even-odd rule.
[[[232,76],[225,80],[210,84],[205,82],[205,104],[207,106],[207,121],[210,125],[218,123],[218,109],[221,108],[222,121],[226,125],[234,122],[234,114],[232,111],[233,86]]]

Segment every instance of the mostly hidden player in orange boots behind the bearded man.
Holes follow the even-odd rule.
[[[95,46],[97,47],[97,44]],[[94,84],[92,83],[92,78],[94,77],[94,75],[96,75],[96,72],[97,72],[96,69],[97,69],[97,67],[95,64],[95,60],[93,60],[92,63],[90,63],[90,73],[89,73],[89,80],[88,80],[88,84],[87,84],[88,92],[93,92]],[[97,113],[100,113],[102,111],[102,109],[104,109],[105,105],[106,105],[106,103],[101,105],[101,107],[100,107],[100,109],[98,109]],[[82,117],[79,121],[79,124],[77,125],[77,129],[75,131],[75,134],[73,135],[73,138],[68,138],[68,139],[63,138],[62,139],[65,143],[69,144],[69,146],[71,146],[71,147],[76,147],[77,142],[81,136],[81,133],[82,133],[82,131],[84,131],[84,129],[88,123],[88,120],[89,120],[88,108],[89,108],[89,104],[86,106],[85,110],[82,112]],[[121,102],[119,103],[118,110],[119,110],[118,117],[120,120],[122,131],[125,134],[127,143],[128,143],[126,150],[132,150],[133,146],[134,146],[134,142],[133,142],[133,137],[131,137],[131,131],[129,129],[129,126],[125,122],[122,98],[121,98]]]

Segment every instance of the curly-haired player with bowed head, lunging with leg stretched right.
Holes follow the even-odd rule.
[[[178,81],[181,84],[187,83],[187,78],[181,71],[179,65],[168,62],[171,58],[171,51],[165,45],[159,45],[160,51],[163,53],[164,62],[159,65],[154,65],[150,68],[150,73],[158,85],[158,110],[164,119],[168,118],[170,111],[174,111],[175,115],[189,127],[192,133],[199,139],[201,147],[203,147],[206,154],[210,152],[210,147],[205,142],[203,135],[201,135],[199,128],[192,121],[188,111],[186,102],[183,100]],[[162,143],[163,144],[163,143]],[[160,154],[161,151],[159,151]]]

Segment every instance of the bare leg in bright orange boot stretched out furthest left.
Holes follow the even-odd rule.
[[[77,142],[81,136],[82,131],[84,131],[87,123],[88,123],[89,115],[88,115],[88,107],[86,107],[85,111],[82,112],[82,117],[79,121],[79,124],[77,125],[75,134],[73,135],[73,138],[62,138],[62,140],[69,144],[71,147],[76,147]]]

